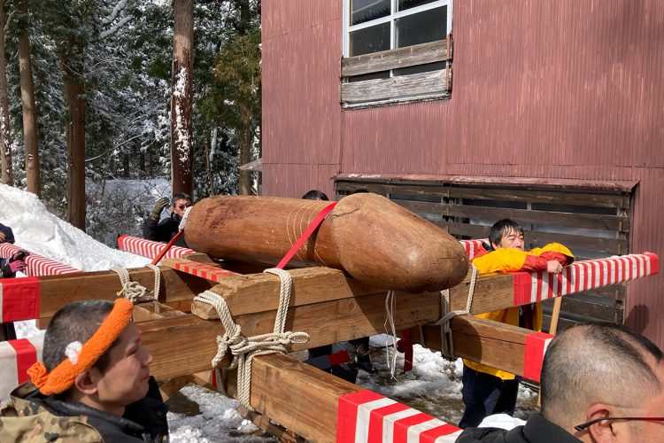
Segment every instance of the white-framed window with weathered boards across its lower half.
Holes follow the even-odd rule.
[[[451,32],[452,0],[344,0],[342,102],[449,94]]]

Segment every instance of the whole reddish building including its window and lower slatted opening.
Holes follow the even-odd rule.
[[[662,253],[664,4],[264,0],[263,193],[382,193],[459,238]],[[664,346],[661,276],[565,300]]]

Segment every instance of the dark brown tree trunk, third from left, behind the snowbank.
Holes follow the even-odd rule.
[[[65,68],[67,128],[67,220],[85,230],[85,85]]]

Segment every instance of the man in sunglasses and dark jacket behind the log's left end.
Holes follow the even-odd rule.
[[[173,207],[171,208],[172,212],[170,216],[159,221],[161,212],[166,209],[166,206],[168,206],[168,201],[167,197],[162,197],[157,200],[150,217],[148,217],[143,223],[143,237],[148,240],[168,243],[171,241],[171,238],[178,233],[182,216],[187,208],[191,206],[191,198],[184,192],[174,194]],[[177,239],[175,245],[187,247],[187,244],[184,243],[183,236]]]

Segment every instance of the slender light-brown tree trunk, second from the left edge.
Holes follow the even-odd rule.
[[[27,0],[19,4],[19,12],[27,15]],[[37,114],[35,110],[35,86],[32,79],[30,39],[27,29],[19,36],[20,98],[23,105],[23,139],[26,143],[27,190],[37,197],[42,195],[39,172],[39,146],[37,141]]]

